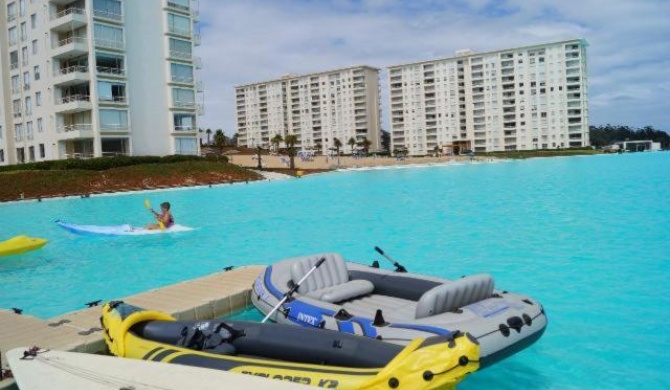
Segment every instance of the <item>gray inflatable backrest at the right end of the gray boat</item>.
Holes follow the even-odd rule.
[[[491,297],[493,278],[489,274],[467,276],[426,291],[416,305],[416,319],[446,313]]]

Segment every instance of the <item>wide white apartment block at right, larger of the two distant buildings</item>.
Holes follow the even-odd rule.
[[[585,40],[389,67],[391,149],[411,155],[589,145]]]

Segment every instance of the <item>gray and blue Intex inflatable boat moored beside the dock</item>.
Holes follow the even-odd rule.
[[[325,262],[315,268],[323,258]],[[289,294],[292,290],[295,293]],[[540,303],[495,290],[488,274],[446,280],[345,262],[337,253],[268,266],[254,282],[251,299],[275,322],[401,345],[419,337],[467,332],[480,344],[481,367],[533,344],[547,326]]]

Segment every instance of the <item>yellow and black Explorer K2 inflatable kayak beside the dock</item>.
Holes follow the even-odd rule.
[[[101,323],[109,350],[119,357],[331,389],[454,389],[479,367],[479,345],[467,334],[416,339],[402,347],[325,329],[176,321],[121,301],[102,308]]]

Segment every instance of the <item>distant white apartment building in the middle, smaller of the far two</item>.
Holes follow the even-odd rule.
[[[276,134],[296,134],[299,148],[324,154],[335,138],[345,147],[351,138],[380,147],[377,68],[285,76],[235,87],[235,96],[240,145],[269,147]]]

